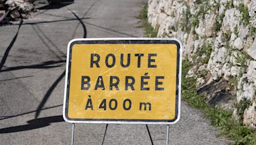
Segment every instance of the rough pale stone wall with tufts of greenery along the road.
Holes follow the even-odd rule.
[[[177,38],[193,63],[199,90],[214,106],[246,103],[243,123],[256,128],[256,0],[149,0],[157,36]],[[203,74],[203,75],[202,75]]]

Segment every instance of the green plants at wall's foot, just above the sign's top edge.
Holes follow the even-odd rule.
[[[144,4],[141,11],[140,11],[140,15],[137,18],[140,18],[143,21],[143,24],[140,25],[140,27],[143,27],[146,31],[146,36],[148,38],[156,38],[157,36],[157,32],[159,27],[157,26],[156,29],[154,29],[152,27],[152,25],[150,25],[148,23],[148,5]]]

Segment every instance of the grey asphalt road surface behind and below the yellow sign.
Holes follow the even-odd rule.
[[[63,121],[67,43],[73,38],[143,37],[135,17],[145,0],[75,0],[41,7],[35,17],[0,27],[0,144],[70,144]],[[200,111],[182,102],[170,144],[226,144]],[[154,144],[166,126],[148,125]],[[77,124],[75,144],[151,144],[145,125]]]

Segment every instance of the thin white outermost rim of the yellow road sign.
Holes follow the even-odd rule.
[[[150,122],[150,121],[74,121],[74,120],[68,120],[65,116],[65,109],[66,109],[66,98],[67,98],[67,81],[68,81],[68,62],[69,62],[69,52],[70,52],[70,45],[74,42],[74,41],[95,41],[95,40],[173,40],[173,41],[177,41],[180,45],[180,64],[179,64],[179,101],[178,101],[178,116],[177,119],[173,122]],[[68,47],[67,47],[67,62],[66,62],[66,76],[65,76],[65,92],[64,92],[64,100],[63,100],[63,119],[65,121],[67,121],[68,123],[93,123],[93,124],[98,124],[98,123],[102,123],[102,124],[134,124],[134,125],[138,125],[138,124],[152,124],[152,125],[173,125],[175,123],[177,123],[180,120],[180,95],[181,95],[181,72],[182,72],[182,44],[180,43],[180,41],[178,39],[175,38],[77,38],[77,39],[72,39],[71,41],[69,41],[68,43]]]

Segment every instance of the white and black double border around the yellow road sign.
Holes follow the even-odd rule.
[[[122,41],[122,43],[120,43]],[[175,119],[174,120],[113,120],[113,119],[72,119],[68,118],[68,93],[70,81],[70,64],[72,46],[75,44],[174,44],[177,45],[177,82],[175,95]],[[67,46],[67,64],[65,76],[65,92],[63,101],[63,118],[68,123],[115,123],[115,124],[163,124],[172,125],[180,120],[180,93],[182,71],[182,45],[179,40],[173,38],[84,38],[72,39]]]

